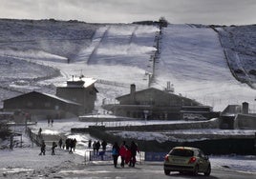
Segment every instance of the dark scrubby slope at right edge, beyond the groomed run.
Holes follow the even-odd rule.
[[[225,56],[233,75],[255,89],[256,26],[225,27],[219,30]]]

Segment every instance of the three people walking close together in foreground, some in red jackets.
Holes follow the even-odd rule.
[[[128,164],[129,167],[135,167],[137,152],[139,152],[139,148],[134,141],[132,141],[130,146],[126,145],[125,141],[123,141],[120,146],[118,146],[116,142],[112,148],[112,156],[115,168],[117,168],[118,156],[121,157],[121,168],[124,168],[124,164]]]

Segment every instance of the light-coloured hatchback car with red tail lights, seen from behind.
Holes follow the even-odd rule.
[[[208,156],[201,149],[190,147],[175,147],[164,157],[163,170],[166,175],[171,171],[191,172],[198,175],[203,172],[205,176],[211,173],[211,164]]]

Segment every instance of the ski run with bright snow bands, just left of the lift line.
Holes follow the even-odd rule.
[[[147,83],[142,80],[150,55],[156,51],[153,47],[156,31],[157,27],[139,25],[102,27],[96,30],[91,46],[81,50],[75,61],[85,63],[86,70],[97,68],[95,74],[90,74],[97,79],[126,86],[135,83],[145,88]]]

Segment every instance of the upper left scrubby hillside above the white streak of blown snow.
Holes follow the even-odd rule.
[[[2,50],[41,50],[72,58],[88,46],[98,25],[73,21],[0,19]],[[30,51],[32,52],[32,51]]]

